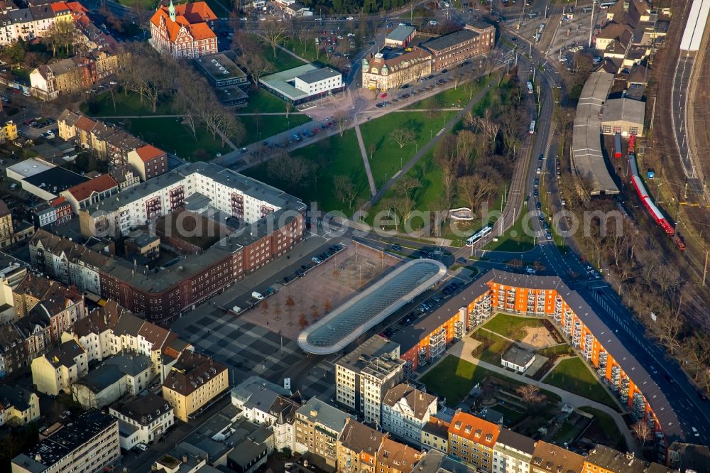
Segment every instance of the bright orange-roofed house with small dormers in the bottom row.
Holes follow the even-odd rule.
[[[493,471],[493,447],[501,426],[475,415],[457,412],[449,425],[449,455],[474,465],[479,471]]]

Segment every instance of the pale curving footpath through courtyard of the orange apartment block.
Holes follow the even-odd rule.
[[[641,452],[638,448],[637,442],[626,427],[626,423],[621,417],[621,414],[614,411],[609,406],[598,403],[596,401],[591,401],[591,399],[587,399],[577,394],[570,393],[569,391],[564,391],[564,389],[560,389],[557,386],[551,386],[550,384],[545,384],[542,381],[535,381],[534,379],[530,379],[521,374],[513,373],[512,371],[504,369],[502,366],[496,366],[494,364],[486,363],[486,361],[482,361],[471,355],[471,351],[471,344],[466,343],[466,339],[464,339],[459,340],[459,342],[456,342],[456,344],[449,348],[447,350],[447,354],[452,354],[454,355],[454,357],[459,357],[461,359],[469,361],[470,363],[475,364],[476,366],[481,366],[481,368],[488,369],[489,371],[493,371],[496,374],[501,374],[502,376],[506,376],[507,378],[513,379],[514,381],[518,381],[523,384],[532,384],[532,386],[537,386],[539,388],[550,391],[551,393],[555,393],[557,394],[557,396],[562,398],[562,403],[569,404],[569,406],[572,406],[574,408],[586,406],[595,408],[598,411],[602,411],[603,413],[610,415],[611,418],[613,418],[614,423],[616,424],[616,427],[618,428],[619,432],[622,433],[624,440],[626,440],[626,445],[628,445],[628,448],[633,451],[635,455],[640,457]]]

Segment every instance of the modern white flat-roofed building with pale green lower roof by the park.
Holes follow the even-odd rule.
[[[344,89],[342,74],[330,67],[305,64],[265,75],[259,84],[276,97],[297,105],[336,94]]]

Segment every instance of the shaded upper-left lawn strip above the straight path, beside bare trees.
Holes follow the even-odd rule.
[[[114,106],[115,104],[115,106]],[[141,103],[141,96],[136,92],[124,93],[111,90],[94,95],[82,103],[80,110],[89,116],[128,116],[128,115],[170,115],[174,114],[172,100],[162,99],[158,108],[153,112],[153,107],[147,100]]]

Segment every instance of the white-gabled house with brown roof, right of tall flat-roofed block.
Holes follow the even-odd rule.
[[[421,446],[422,429],[437,413],[437,396],[419,391],[407,384],[398,384],[382,400],[381,425],[394,437]]]

